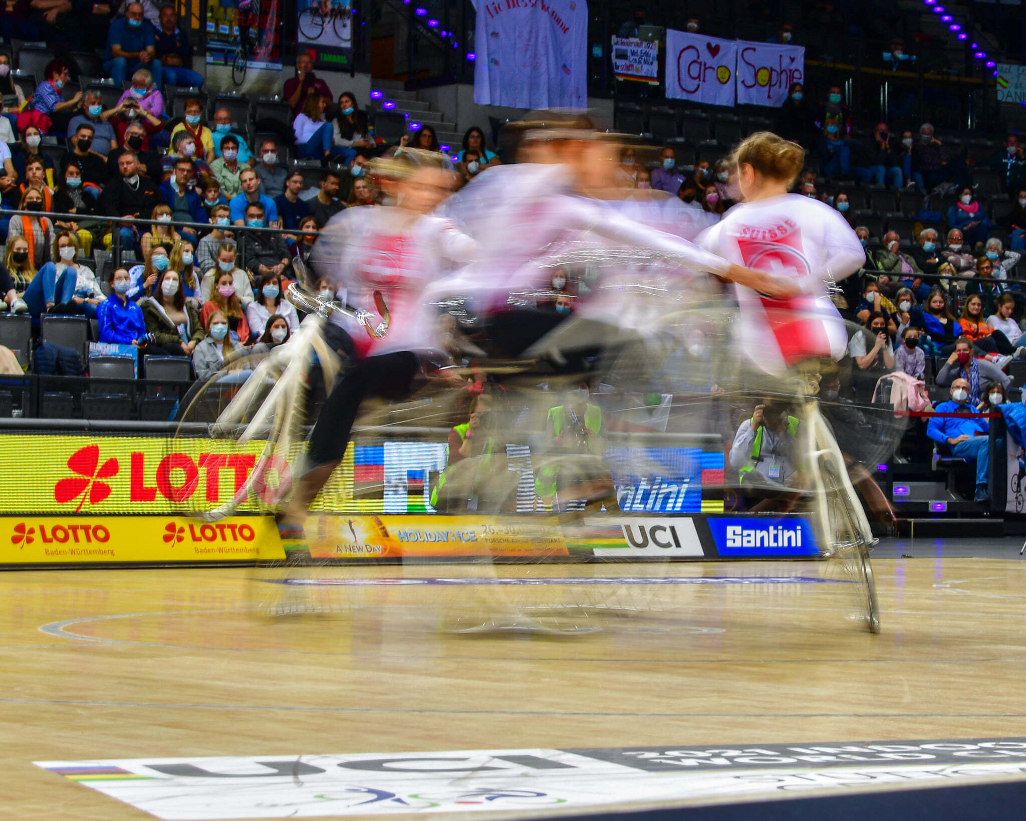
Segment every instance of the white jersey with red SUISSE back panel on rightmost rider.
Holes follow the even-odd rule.
[[[837,211],[798,194],[735,205],[699,243],[737,265],[790,277],[801,286],[802,295],[789,300],[735,286],[739,344],[758,367],[777,374],[806,357],[844,355],[847,333],[826,280],[858,271],[865,253]]]

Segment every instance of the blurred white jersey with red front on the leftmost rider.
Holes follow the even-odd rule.
[[[314,245],[318,276],[331,276],[347,290],[347,302],[380,314],[374,292],[391,319],[388,333],[371,339],[357,322],[343,326],[364,356],[438,347],[437,312],[426,294],[453,265],[470,262],[477,243],[450,220],[419,217],[411,222],[397,208],[347,208],[336,214]]]

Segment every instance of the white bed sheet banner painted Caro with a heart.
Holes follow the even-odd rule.
[[[668,29],[666,95],[712,106],[733,106],[738,41]]]

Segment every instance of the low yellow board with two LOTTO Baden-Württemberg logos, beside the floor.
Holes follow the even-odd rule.
[[[203,524],[181,516],[5,516],[0,564],[283,559],[270,516]]]

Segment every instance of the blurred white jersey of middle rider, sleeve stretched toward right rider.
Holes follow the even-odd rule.
[[[614,243],[646,248],[695,271],[726,274],[731,265],[679,236],[628,219],[618,202],[577,195],[559,165],[489,168],[446,206],[481,244],[481,257],[446,283],[476,295],[481,307],[502,310],[511,294],[548,287],[551,271],[538,261],[574,232],[593,232]]]

